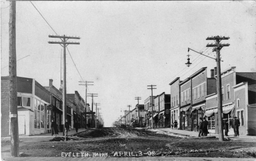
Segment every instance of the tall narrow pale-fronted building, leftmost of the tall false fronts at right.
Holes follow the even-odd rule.
[[[174,79],[169,85],[171,87],[171,124],[174,123],[174,121],[177,121],[179,123],[178,127],[181,129],[182,125],[182,119],[180,119],[180,94],[179,94],[179,84],[182,81],[177,77]]]

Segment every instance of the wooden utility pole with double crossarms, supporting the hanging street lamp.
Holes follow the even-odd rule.
[[[220,74],[220,50],[224,46],[230,44],[220,44],[221,40],[228,40],[229,37],[208,37],[206,40],[214,40],[215,44],[207,44],[206,47],[213,47],[212,51],[216,51],[217,62],[217,93],[218,93],[218,127],[219,127],[219,141],[224,141],[223,135],[223,118],[222,118],[222,77]]]

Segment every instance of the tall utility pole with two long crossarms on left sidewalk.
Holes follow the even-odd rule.
[[[63,47],[63,105],[62,105],[62,110],[63,110],[63,119],[62,119],[62,123],[63,123],[63,136],[65,136],[65,140],[66,135],[65,135],[65,121],[67,118],[67,105],[66,105],[66,94],[67,94],[67,87],[66,87],[66,47],[69,44],[74,44],[74,45],[79,45],[80,43],[76,43],[76,42],[68,42],[68,39],[80,39],[79,37],[67,37],[65,35],[49,35],[49,38],[60,38],[62,41],[48,41],[49,44],[60,44]]]

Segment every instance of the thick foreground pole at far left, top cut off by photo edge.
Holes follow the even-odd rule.
[[[16,67],[16,1],[10,1],[9,18],[9,85],[10,85],[10,153],[19,157],[19,126],[17,104],[17,67]]]

